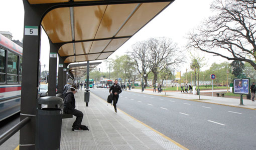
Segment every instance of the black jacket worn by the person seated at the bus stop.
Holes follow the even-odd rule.
[[[73,92],[67,92],[64,99],[64,112],[67,110],[73,111],[76,107],[76,100]]]

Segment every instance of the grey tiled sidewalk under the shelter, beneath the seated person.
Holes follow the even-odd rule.
[[[89,131],[72,131],[75,120],[62,120],[61,147],[69,149],[187,149],[158,133],[128,114],[107,105],[105,100],[90,93],[89,106],[85,106],[84,92],[75,94],[76,108],[84,113],[82,124],[89,126]]]

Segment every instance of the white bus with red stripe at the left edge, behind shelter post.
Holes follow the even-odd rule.
[[[0,121],[21,110],[22,47],[0,34]]]

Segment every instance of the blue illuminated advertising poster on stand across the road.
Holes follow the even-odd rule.
[[[249,79],[234,79],[234,93],[249,94]]]

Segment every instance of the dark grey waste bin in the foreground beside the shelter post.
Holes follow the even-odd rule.
[[[36,113],[36,149],[55,150],[60,148],[61,108],[42,107],[42,104],[61,104],[62,98],[46,96],[37,99]]]

